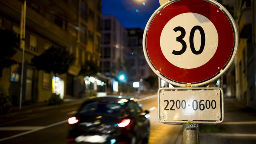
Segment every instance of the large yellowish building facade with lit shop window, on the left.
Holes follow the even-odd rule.
[[[20,34],[22,0],[0,1],[0,28]],[[100,65],[101,1],[100,0],[33,0],[26,2],[25,65],[22,102],[42,102],[52,92],[64,97],[84,96],[84,77],[80,68],[87,61]],[[76,61],[66,74],[53,76],[36,70],[31,59],[51,46],[68,50]],[[18,62],[4,68],[0,77],[0,91],[18,103],[22,50],[13,59]]]

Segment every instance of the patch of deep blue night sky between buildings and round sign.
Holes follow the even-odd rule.
[[[102,0],[102,14],[113,14],[125,28],[144,30],[159,6],[159,0]]]

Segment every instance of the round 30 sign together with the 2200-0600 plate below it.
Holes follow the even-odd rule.
[[[230,13],[214,0],[170,0],[150,17],[143,50],[153,72],[182,88],[158,90],[158,120],[218,124],[223,90],[194,88],[218,79],[234,61],[238,32]]]

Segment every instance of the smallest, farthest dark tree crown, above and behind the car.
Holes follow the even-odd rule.
[[[100,68],[98,67],[98,64],[96,62],[93,62],[92,60],[90,60],[90,61],[86,61],[84,63],[84,65],[81,66],[79,75],[90,76],[90,75],[94,75],[98,72],[100,72]]]

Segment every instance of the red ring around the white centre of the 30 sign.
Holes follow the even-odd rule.
[[[166,23],[174,16],[186,12],[198,13],[214,24],[218,32],[218,47],[206,64],[192,69],[171,64],[162,54],[160,36]],[[161,15],[160,15],[161,14]],[[198,83],[208,80],[226,66],[234,49],[234,32],[226,14],[217,6],[204,0],[180,0],[164,7],[152,20],[146,35],[146,49],[153,66],[170,80]]]

